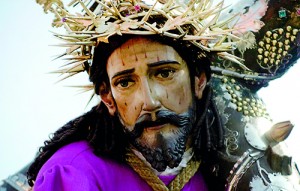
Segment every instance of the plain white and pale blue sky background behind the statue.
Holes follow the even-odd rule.
[[[90,93],[77,95],[63,87],[88,82],[87,76],[55,84],[57,76],[48,74],[60,66],[51,60],[62,51],[49,46],[56,44],[51,21],[34,0],[0,1],[0,180],[29,163],[51,132],[95,104],[86,107]],[[286,141],[294,154],[300,135],[299,74],[300,64],[260,92],[275,122],[296,124]]]

